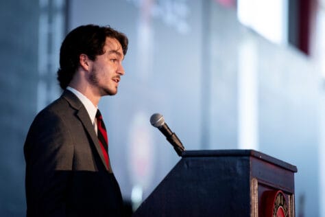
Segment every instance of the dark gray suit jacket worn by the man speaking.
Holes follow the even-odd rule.
[[[119,185],[71,91],[36,115],[24,154],[27,216],[121,216]]]

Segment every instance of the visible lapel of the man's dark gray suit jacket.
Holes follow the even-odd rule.
[[[74,95],[71,91],[64,91],[62,97],[65,98],[69,102],[69,104],[77,111],[76,116],[78,117],[78,119],[80,119],[80,122],[82,122],[82,125],[84,126],[88,135],[90,135],[91,140],[93,141],[93,144],[95,144],[95,148],[101,158],[101,162],[104,164],[106,170],[108,170],[103,152],[101,151],[101,147],[97,135],[95,133],[95,128],[93,124],[91,124],[91,119],[88,115],[88,112],[86,111],[86,108],[84,107],[82,102],[77,98],[77,96]]]

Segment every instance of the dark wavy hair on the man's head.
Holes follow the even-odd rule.
[[[116,38],[121,43],[123,54],[126,54],[128,38],[109,26],[82,25],[69,32],[60,49],[58,81],[62,89],[67,88],[79,67],[80,54],[86,54],[93,61],[96,56],[104,54],[106,37]]]

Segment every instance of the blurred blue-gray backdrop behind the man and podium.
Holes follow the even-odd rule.
[[[99,104],[126,204],[180,160],[149,123],[161,113],[187,150],[296,165],[296,216],[325,217],[324,0],[1,0],[0,17],[0,216],[25,216],[27,130],[62,93],[64,36],[95,23],[130,40],[119,93]]]

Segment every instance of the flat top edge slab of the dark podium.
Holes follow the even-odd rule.
[[[182,152],[182,158],[186,157],[254,157],[274,165],[278,165],[281,168],[290,170],[291,172],[297,172],[297,167],[281,161],[269,155],[265,155],[262,152],[256,150],[185,150]]]

